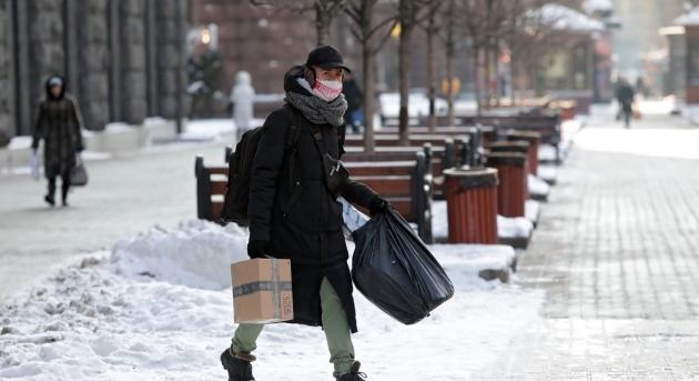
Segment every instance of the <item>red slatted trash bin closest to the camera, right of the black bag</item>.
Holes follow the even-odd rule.
[[[497,243],[497,170],[444,171],[450,243]]]

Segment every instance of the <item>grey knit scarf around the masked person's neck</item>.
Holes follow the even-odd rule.
[[[344,116],[347,111],[345,94],[340,94],[332,102],[326,102],[315,96],[304,96],[293,91],[286,91],[284,101],[301,110],[312,123],[331,126],[342,126],[345,122]]]

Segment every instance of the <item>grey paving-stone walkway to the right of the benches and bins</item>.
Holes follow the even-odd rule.
[[[699,380],[698,269],[699,160],[574,148],[518,269],[541,319],[473,379]]]

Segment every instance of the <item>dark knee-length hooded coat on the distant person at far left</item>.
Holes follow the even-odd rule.
[[[43,167],[47,178],[65,173],[75,166],[75,153],[83,149],[82,117],[75,99],[61,93],[53,97],[47,81],[47,98],[39,104],[31,147],[43,139]]]

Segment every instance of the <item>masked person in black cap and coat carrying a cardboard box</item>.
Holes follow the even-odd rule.
[[[344,153],[343,70],[348,69],[340,52],[325,46],[314,49],[305,66],[286,73],[286,104],[267,117],[253,160],[247,252],[251,258],[291,259],[294,322],[322,325],[335,379],[354,381],[364,375],[354,360],[351,333],[357,328],[336,193],[372,213],[388,203],[351,179],[335,194],[328,187],[322,157],[340,159]],[[300,134],[287,149],[292,124]],[[221,354],[229,380],[254,380],[251,352],[262,329],[262,324],[239,325],[231,348]]]

